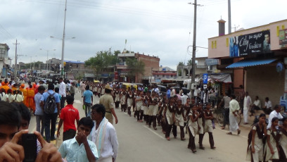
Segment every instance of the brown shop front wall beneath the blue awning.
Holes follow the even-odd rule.
[[[255,66],[246,68],[246,91],[252,101],[259,96],[261,105],[264,106],[265,97],[269,97],[272,106],[280,103],[280,96],[284,93],[285,72],[277,73],[274,64],[269,66]]]

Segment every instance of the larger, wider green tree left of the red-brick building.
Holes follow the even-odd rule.
[[[117,51],[115,51],[115,54],[118,54]],[[101,74],[103,69],[108,66],[115,66],[118,61],[115,54],[112,54],[110,49],[109,51],[98,51],[96,56],[91,57],[84,62],[85,66],[93,68],[96,75]]]

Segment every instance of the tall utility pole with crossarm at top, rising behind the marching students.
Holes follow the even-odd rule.
[[[191,3],[189,3],[191,4]],[[192,45],[192,74],[191,74],[191,85],[193,83],[195,83],[195,79],[196,79],[196,10],[197,10],[197,6],[200,6],[199,4],[197,4],[197,1],[194,0],[194,18],[193,18],[193,45]],[[193,96],[193,89],[191,90],[191,98]]]

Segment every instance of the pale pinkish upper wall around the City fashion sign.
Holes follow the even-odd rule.
[[[287,27],[287,20],[281,20],[267,25],[259,27],[253,27],[247,30],[241,30],[232,32],[229,35],[221,37],[212,37],[208,39],[208,58],[220,58],[229,57],[229,37],[236,37],[239,35],[248,35],[253,32],[261,32],[263,30],[270,30],[270,44],[271,50],[281,49],[279,46],[279,35],[277,35],[278,29],[282,30],[283,27]],[[216,47],[212,48],[212,42],[216,41]]]

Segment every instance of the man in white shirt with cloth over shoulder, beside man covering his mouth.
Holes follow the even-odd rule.
[[[91,119],[95,125],[91,129],[89,140],[95,142],[98,149],[97,162],[115,162],[118,142],[115,127],[105,117],[106,109],[102,104],[91,107]]]

